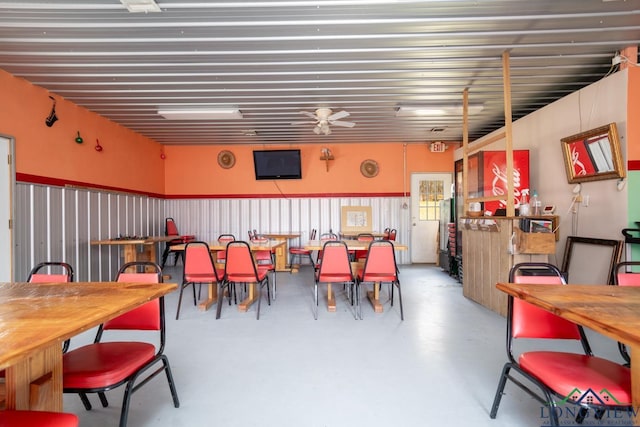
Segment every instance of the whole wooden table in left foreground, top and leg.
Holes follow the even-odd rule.
[[[174,283],[0,283],[0,369],[5,407],[61,412],[62,344]]]

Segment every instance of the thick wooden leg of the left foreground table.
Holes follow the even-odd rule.
[[[6,408],[62,412],[62,344],[6,369]]]

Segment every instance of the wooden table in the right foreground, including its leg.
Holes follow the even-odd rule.
[[[507,294],[590,328],[631,349],[633,410],[640,408],[640,288],[498,283]],[[636,417],[634,425],[639,425]]]

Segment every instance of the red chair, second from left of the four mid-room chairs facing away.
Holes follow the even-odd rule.
[[[265,267],[260,267],[256,264],[253,255],[251,254],[251,247],[249,243],[242,240],[235,240],[227,244],[226,250],[227,263],[225,265],[224,281],[221,283],[221,287],[228,289],[231,294],[231,285],[238,283],[242,284],[254,284],[255,292],[257,293],[258,309],[256,313],[256,319],[260,319],[260,302],[262,300],[262,288],[267,287],[267,303],[271,305],[271,296],[269,294],[269,270]],[[223,290],[221,289],[221,291]],[[250,293],[253,292],[250,288]],[[250,294],[250,296],[253,296]],[[218,299],[218,307],[216,311],[216,319],[220,318],[222,311],[221,298]]]

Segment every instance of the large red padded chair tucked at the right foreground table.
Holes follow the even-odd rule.
[[[522,275],[527,270],[529,275]],[[558,268],[551,264],[521,263],[512,267],[509,282],[561,286],[564,285],[564,278]],[[516,360],[514,341],[518,338],[526,338],[529,350],[520,353]],[[550,340],[558,339],[579,341],[583,353],[549,350]],[[540,343],[540,347],[536,343]],[[596,418],[602,417],[608,409],[631,410],[631,371],[628,367],[594,356],[579,325],[513,296],[508,298],[507,357],[508,361],[500,374],[491,418],[496,417],[507,380],[545,405],[553,426],[560,425],[556,400],[579,405],[576,416],[578,424],[584,420],[589,409],[594,410]],[[540,393],[528,386],[525,380]],[[602,390],[606,390],[607,396],[599,395]],[[584,396],[589,391],[593,395]],[[609,396],[614,396],[614,399],[607,400]]]

